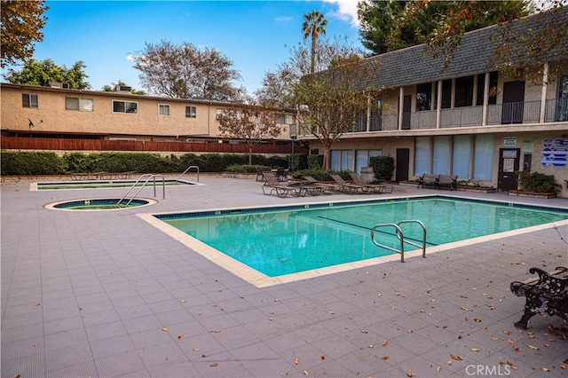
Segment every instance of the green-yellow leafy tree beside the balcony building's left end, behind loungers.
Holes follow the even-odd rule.
[[[360,114],[367,113],[369,97],[376,96],[374,91],[361,88],[360,80],[375,75],[377,69],[373,65],[357,54],[338,56],[326,71],[305,76],[296,85],[300,128],[322,144],[326,171],[331,146],[345,131],[351,130]]]

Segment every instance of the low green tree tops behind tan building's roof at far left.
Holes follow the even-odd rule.
[[[65,65],[56,65],[52,59],[28,59],[20,70],[8,69],[4,79],[8,83],[43,87],[50,86],[51,82],[68,83],[69,88],[85,90],[91,88],[91,84],[85,81],[89,77],[83,71],[85,67],[82,60],[77,61],[73,67],[67,68]]]

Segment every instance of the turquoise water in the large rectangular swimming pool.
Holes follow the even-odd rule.
[[[375,246],[375,224],[417,219],[427,247],[568,219],[568,209],[493,201],[423,197],[155,215],[212,248],[269,277],[386,256]],[[403,226],[405,239],[422,243],[422,228]],[[399,246],[393,228],[375,239]],[[405,249],[412,249],[405,247]]]

